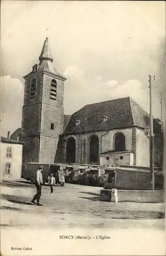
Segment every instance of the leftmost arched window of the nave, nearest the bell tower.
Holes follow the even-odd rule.
[[[76,140],[70,137],[66,141],[66,163],[76,162]]]

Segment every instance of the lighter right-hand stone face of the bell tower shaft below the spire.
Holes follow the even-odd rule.
[[[53,78],[57,81],[56,100],[50,98],[50,86]],[[55,160],[59,135],[63,132],[63,91],[63,81],[44,74],[39,152],[39,161],[41,162],[54,163]],[[51,123],[54,124],[53,130],[51,129]]]

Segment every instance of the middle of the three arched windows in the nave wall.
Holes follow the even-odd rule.
[[[99,163],[99,138],[93,135],[90,138],[90,163]]]

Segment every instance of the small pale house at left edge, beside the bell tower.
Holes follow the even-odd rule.
[[[1,137],[1,180],[21,178],[22,142]]]

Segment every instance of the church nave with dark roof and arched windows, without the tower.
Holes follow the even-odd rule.
[[[64,162],[150,165],[148,114],[130,97],[86,105],[63,132]],[[154,120],[155,162],[162,159],[161,126]]]

